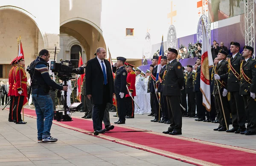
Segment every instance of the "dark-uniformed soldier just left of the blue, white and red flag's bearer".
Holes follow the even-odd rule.
[[[159,113],[159,96],[157,94],[156,88],[156,76],[157,76],[157,64],[158,64],[158,56],[153,56],[152,65],[154,66],[153,70],[151,71],[151,79],[149,80],[149,92],[152,96],[153,107],[155,110],[155,118],[151,121],[157,122],[158,121],[158,113]]]

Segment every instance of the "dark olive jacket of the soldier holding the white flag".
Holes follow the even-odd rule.
[[[216,66],[216,73],[218,73],[219,76],[223,75],[223,74],[226,74],[228,72],[228,62],[226,60],[222,60],[221,63],[218,62],[218,65]],[[227,86],[227,77],[223,77],[221,79],[221,81],[225,82],[226,86]],[[214,84],[214,89],[213,89],[213,94],[214,95],[217,95],[218,94],[218,86],[217,86],[217,83],[218,82],[218,85],[219,85],[219,88],[220,88],[220,92],[221,92],[221,95],[222,95],[222,92],[223,92],[223,89],[226,87],[223,87],[221,86],[221,83],[219,81],[216,81],[215,84]]]

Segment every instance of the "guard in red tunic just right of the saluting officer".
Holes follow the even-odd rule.
[[[133,65],[126,63],[125,68],[127,71],[126,84],[129,89],[129,94],[125,95],[125,104],[126,104],[125,118],[134,118],[134,101],[131,98],[131,96],[132,97],[136,96],[136,90],[135,90],[136,74],[132,70],[132,68],[134,68]]]

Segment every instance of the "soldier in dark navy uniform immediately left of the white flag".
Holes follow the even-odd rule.
[[[195,73],[193,91],[195,92],[196,111],[197,111],[197,114],[198,114],[198,119],[195,119],[195,121],[204,121],[205,120],[206,109],[202,104],[203,103],[203,94],[200,90],[201,56],[199,56],[198,59],[196,60],[196,64],[198,65],[198,68],[197,68],[196,73]]]

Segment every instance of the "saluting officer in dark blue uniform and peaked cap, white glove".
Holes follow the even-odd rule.
[[[116,57],[117,62],[113,65],[113,72],[116,73],[116,77],[114,80],[115,92],[116,92],[116,100],[117,100],[117,110],[119,115],[119,120],[114,122],[115,124],[125,124],[125,95],[128,94],[126,88],[126,78],[127,71],[125,69],[125,61],[124,57]],[[118,68],[118,69],[116,69]]]

